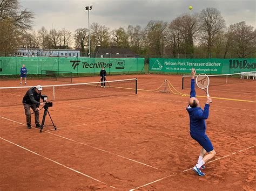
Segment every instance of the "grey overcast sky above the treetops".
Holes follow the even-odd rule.
[[[35,13],[33,29],[42,26],[50,30],[66,28],[75,31],[88,27],[88,11],[93,5],[90,23],[117,29],[120,26],[146,26],[150,20],[171,20],[183,13],[196,13],[205,8],[217,8],[226,25],[245,21],[255,29],[255,0],[19,0],[22,8]],[[188,6],[193,6],[192,10]]]

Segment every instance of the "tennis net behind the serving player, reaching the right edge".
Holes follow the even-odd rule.
[[[208,75],[210,79],[210,86],[220,86],[223,84],[232,84],[232,83],[245,83],[254,80],[253,76],[254,72],[242,72],[235,74],[216,74],[216,75]],[[244,78],[244,76],[249,76]],[[197,75],[196,75],[197,77]],[[181,89],[190,88],[191,84],[191,75],[182,76]]]

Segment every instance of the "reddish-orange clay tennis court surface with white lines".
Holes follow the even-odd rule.
[[[190,89],[181,90],[178,75],[108,76],[107,80],[134,77],[137,95],[124,90],[107,96],[106,86],[98,87],[99,94],[106,96],[53,101],[49,112],[57,131],[51,126],[42,133],[26,128],[23,91],[8,100],[21,104],[3,106],[1,100],[0,190],[255,189],[255,80],[209,88],[212,97],[221,98],[213,98],[206,121],[217,155],[206,164],[206,176],[200,177],[191,170],[200,146],[189,133],[188,96],[151,91],[165,79],[183,94]],[[75,83],[94,81],[98,77],[74,79]],[[0,83],[13,87],[19,81]],[[65,83],[28,79],[28,86],[37,84]],[[65,96],[85,90],[72,91],[65,91]],[[203,90],[196,91],[205,96]],[[199,101],[203,108],[206,98]],[[42,115],[43,110],[41,119]],[[48,116],[45,123],[51,124]],[[35,126],[33,116],[31,125]]]

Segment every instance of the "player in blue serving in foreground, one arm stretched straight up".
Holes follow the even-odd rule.
[[[188,107],[186,108],[190,116],[190,136],[202,146],[198,162],[196,166],[193,167],[193,171],[199,176],[204,176],[205,174],[200,170],[200,168],[204,169],[204,164],[211,160],[216,154],[211,140],[206,135],[205,123],[205,119],[209,116],[212,98],[207,97],[204,110],[200,108],[199,100],[196,98],[196,90],[194,89],[194,76],[196,75],[196,70],[194,68],[192,68],[191,74],[190,100],[188,101]]]

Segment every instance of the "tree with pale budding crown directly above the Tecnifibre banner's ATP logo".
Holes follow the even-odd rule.
[[[114,46],[119,48],[129,47],[128,35],[124,28],[120,27],[119,29],[112,30],[112,36],[112,42]]]

